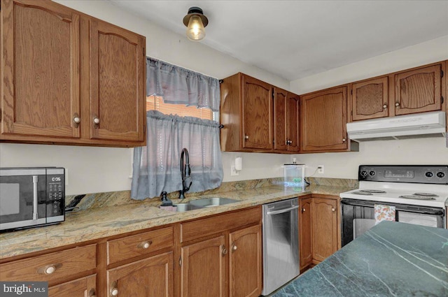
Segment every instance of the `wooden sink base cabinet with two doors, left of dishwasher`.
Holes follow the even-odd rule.
[[[260,296],[260,207],[183,223],[181,241],[181,297]]]

